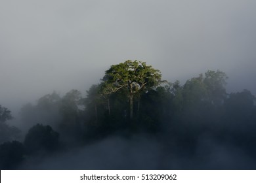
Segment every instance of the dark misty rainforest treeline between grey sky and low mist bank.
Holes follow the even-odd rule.
[[[18,169],[32,156],[133,134],[161,137],[164,146],[173,147],[170,153],[186,156],[196,154],[198,139],[207,136],[255,160],[255,96],[249,90],[227,93],[227,79],[218,70],[184,84],[167,82],[152,66],[125,61],[112,65],[85,96],[78,90],[53,92],[24,105],[22,130],[8,124],[11,111],[0,105],[0,168]],[[23,138],[22,131],[27,131]]]

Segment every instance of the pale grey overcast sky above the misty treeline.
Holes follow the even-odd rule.
[[[255,0],[1,0],[0,105],[54,90],[85,95],[110,65],[146,61],[163,78],[208,69],[256,94]],[[236,91],[237,90],[237,91]]]

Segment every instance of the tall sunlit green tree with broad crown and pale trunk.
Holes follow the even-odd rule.
[[[145,62],[127,60],[124,63],[112,65],[105,72],[102,82],[104,95],[117,92],[122,88],[127,90],[130,101],[130,118],[133,119],[135,95],[158,86],[161,82],[161,74],[158,69],[146,65]]]

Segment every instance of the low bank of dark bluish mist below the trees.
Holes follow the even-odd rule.
[[[255,158],[241,148],[203,139],[196,156],[177,154],[158,138],[109,137],[84,148],[28,159],[18,169],[255,169]],[[171,153],[169,153],[171,152]]]

